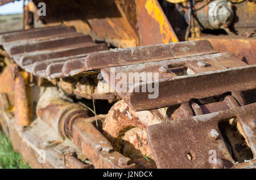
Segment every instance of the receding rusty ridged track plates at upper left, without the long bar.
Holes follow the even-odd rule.
[[[96,44],[90,36],[65,25],[2,33],[0,42],[20,67],[49,79],[73,75],[83,68],[81,63],[72,66],[69,60],[108,50],[105,43]]]

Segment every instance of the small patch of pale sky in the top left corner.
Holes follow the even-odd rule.
[[[15,1],[0,6],[0,15],[21,14],[23,12],[23,1]]]

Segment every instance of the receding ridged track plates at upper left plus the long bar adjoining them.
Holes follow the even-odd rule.
[[[34,36],[34,33],[38,35]],[[13,36],[19,36],[19,42]],[[95,44],[89,36],[76,33],[73,27],[61,25],[28,32],[5,33],[1,39],[3,48],[20,67],[48,79],[73,76],[105,67],[216,53],[208,41],[108,51],[105,44]],[[96,53],[98,51],[102,52]]]

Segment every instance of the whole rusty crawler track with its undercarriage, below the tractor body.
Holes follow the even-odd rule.
[[[108,50],[57,25],[2,33],[0,44],[24,69],[11,65],[0,76],[0,125],[35,168],[255,167],[256,66],[206,40]],[[113,70],[137,72],[139,81],[118,87],[109,79]],[[159,78],[143,80],[142,72]],[[71,95],[122,100],[93,117],[42,78]],[[159,85],[157,98],[135,92],[152,84]],[[49,155],[46,164],[36,161],[40,149]],[[216,161],[208,161],[210,150]]]

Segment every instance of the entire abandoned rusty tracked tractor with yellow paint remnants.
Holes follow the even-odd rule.
[[[255,168],[255,6],[28,2],[0,33],[2,130],[34,168]]]

